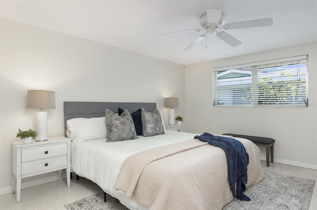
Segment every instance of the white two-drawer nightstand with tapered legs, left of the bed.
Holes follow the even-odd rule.
[[[66,168],[67,187],[70,187],[70,141],[59,136],[47,141],[23,144],[12,142],[12,193],[16,192],[16,203],[20,202],[21,179]]]

